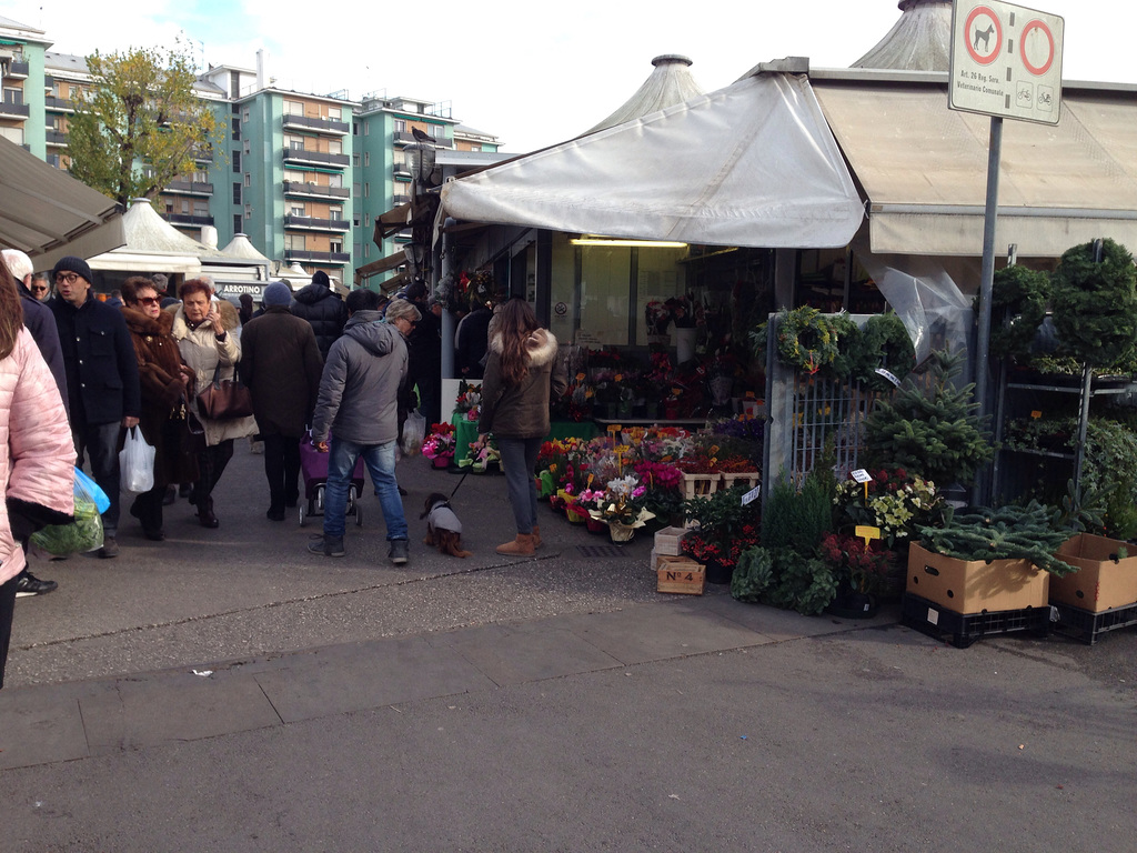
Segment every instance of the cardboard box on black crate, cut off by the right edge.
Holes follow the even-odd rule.
[[[1121,557],[1121,548],[1131,556]],[[1104,536],[1078,533],[1055,556],[1078,571],[1051,578],[1052,602],[1090,613],[1137,604],[1137,547]]]

